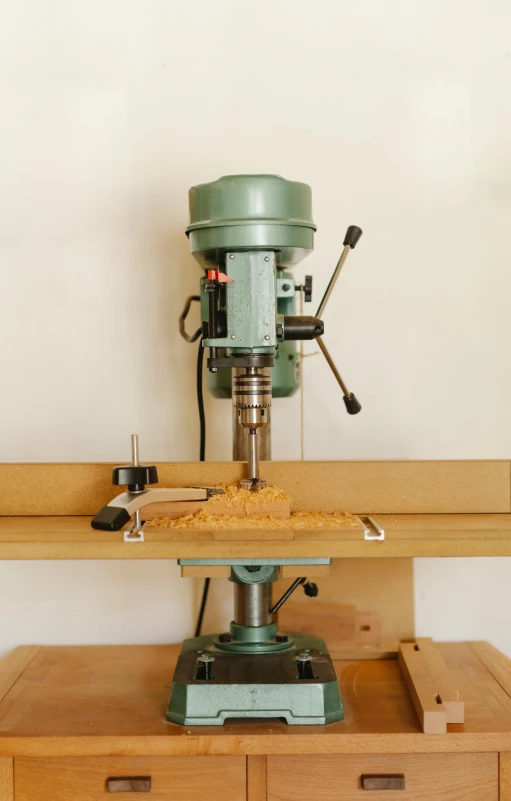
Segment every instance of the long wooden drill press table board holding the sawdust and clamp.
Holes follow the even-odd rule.
[[[510,556],[510,514],[375,514],[384,542],[362,529],[265,532],[146,527],[144,542],[94,531],[90,517],[0,517],[0,559],[222,559],[273,557]]]

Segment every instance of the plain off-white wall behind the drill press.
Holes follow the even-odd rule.
[[[24,0],[0,25],[0,458],[197,456],[198,268],[187,189],[277,172],[313,187],[316,297],[364,404],[306,363],[308,458],[509,458],[511,6],[507,0]],[[230,415],[209,402],[208,456]],[[299,456],[299,402],[274,456]],[[422,634],[490,636],[507,560],[416,564]],[[186,634],[172,563],[0,564],[0,652]],[[477,614],[476,614],[477,613]],[[492,625],[495,618],[495,628]]]

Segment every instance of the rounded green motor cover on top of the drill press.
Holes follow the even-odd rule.
[[[310,186],[280,175],[225,175],[189,191],[190,250],[202,267],[229,250],[273,250],[279,266],[314,247]]]

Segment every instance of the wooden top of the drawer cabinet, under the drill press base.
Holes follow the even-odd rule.
[[[25,647],[0,660],[0,756],[511,751],[511,661],[439,646],[461,671],[465,724],[420,731],[396,660],[337,662],[345,720],[329,726],[165,720],[179,646]]]

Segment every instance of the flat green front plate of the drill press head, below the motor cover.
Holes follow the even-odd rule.
[[[226,253],[223,269],[233,280],[225,286],[227,336],[205,339],[204,347],[226,348],[228,353],[274,353],[275,253],[272,250]]]

